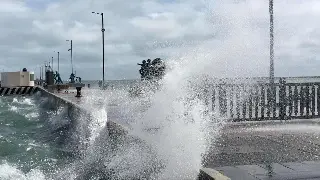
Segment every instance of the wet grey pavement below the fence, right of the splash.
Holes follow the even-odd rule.
[[[307,121],[226,126],[205,166],[236,180],[320,180],[320,125]]]

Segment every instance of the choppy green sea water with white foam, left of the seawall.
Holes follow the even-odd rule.
[[[57,112],[44,102],[37,97],[0,98],[1,180],[45,179],[44,174],[68,161],[63,135],[52,121]]]

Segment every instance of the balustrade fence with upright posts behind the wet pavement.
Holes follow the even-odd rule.
[[[319,82],[217,84],[208,95],[212,110],[233,121],[320,117]]]

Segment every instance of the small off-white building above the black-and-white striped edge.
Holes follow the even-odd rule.
[[[2,72],[1,87],[34,86],[34,72]]]

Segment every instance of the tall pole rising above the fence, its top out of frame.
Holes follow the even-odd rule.
[[[269,0],[270,14],[270,83],[274,83],[274,35],[273,35],[273,0]]]

